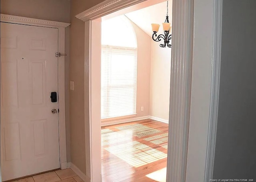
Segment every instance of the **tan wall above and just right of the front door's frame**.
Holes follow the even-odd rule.
[[[56,8],[58,7],[58,8]],[[68,0],[1,0],[1,14],[24,16],[57,22],[70,22],[70,1]],[[65,29],[65,103],[66,103],[66,145],[67,161],[70,162],[69,130],[69,27]]]

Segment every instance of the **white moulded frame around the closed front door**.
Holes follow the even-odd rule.
[[[21,16],[12,16],[0,14],[0,22],[16,23],[22,25],[34,25],[40,27],[50,27],[58,29],[58,53],[65,52],[65,27],[70,23],[54,22],[50,20],[40,20],[35,18],[27,18]],[[55,56],[55,55],[53,55]],[[60,168],[67,168],[66,155],[66,120],[65,120],[65,58],[58,57],[58,129],[59,129],[59,145],[60,145]]]

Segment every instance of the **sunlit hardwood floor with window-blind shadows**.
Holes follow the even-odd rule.
[[[102,182],[165,182],[168,124],[144,119],[102,127]]]

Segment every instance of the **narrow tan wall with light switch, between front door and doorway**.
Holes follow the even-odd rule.
[[[70,5],[70,152],[71,162],[82,172],[85,166],[84,126],[84,22],[75,16],[85,10],[83,0],[72,0]]]

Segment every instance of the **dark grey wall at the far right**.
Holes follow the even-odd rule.
[[[255,9],[255,0],[222,4],[214,179],[256,179]]]

